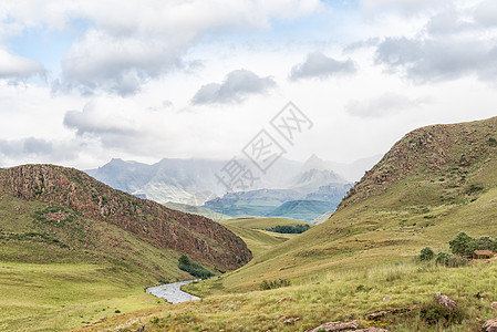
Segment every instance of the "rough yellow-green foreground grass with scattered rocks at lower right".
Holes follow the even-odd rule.
[[[207,297],[200,301],[124,314],[84,331],[304,331],[328,321],[359,319],[363,326],[390,331],[478,331],[494,318],[490,303],[497,299],[497,262],[480,262],[457,269],[413,262],[354,269],[325,277],[311,276],[292,286]],[[426,323],[420,308],[442,291],[457,301],[462,322]],[[478,299],[476,294],[483,297]],[[384,298],[389,300],[383,301]],[[283,300],[284,299],[284,300]],[[389,309],[402,314],[371,321],[365,314]],[[288,319],[298,321],[286,324]]]

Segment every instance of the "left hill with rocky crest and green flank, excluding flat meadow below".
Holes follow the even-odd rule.
[[[218,222],[136,198],[73,168],[0,169],[0,216],[12,209],[18,216],[15,222],[0,218],[0,238],[8,240],[2,249],[11,249],[0,250],[1,260],[92,261],[158,280],[184,273],[176,263],[180,255],[219,269],[251,259],[245,242]]]

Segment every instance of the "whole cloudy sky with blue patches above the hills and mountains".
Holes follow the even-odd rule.
[[[494,116],[497,1],[0,0],[2,167],[230,158],[289,101],[293,159]]]

